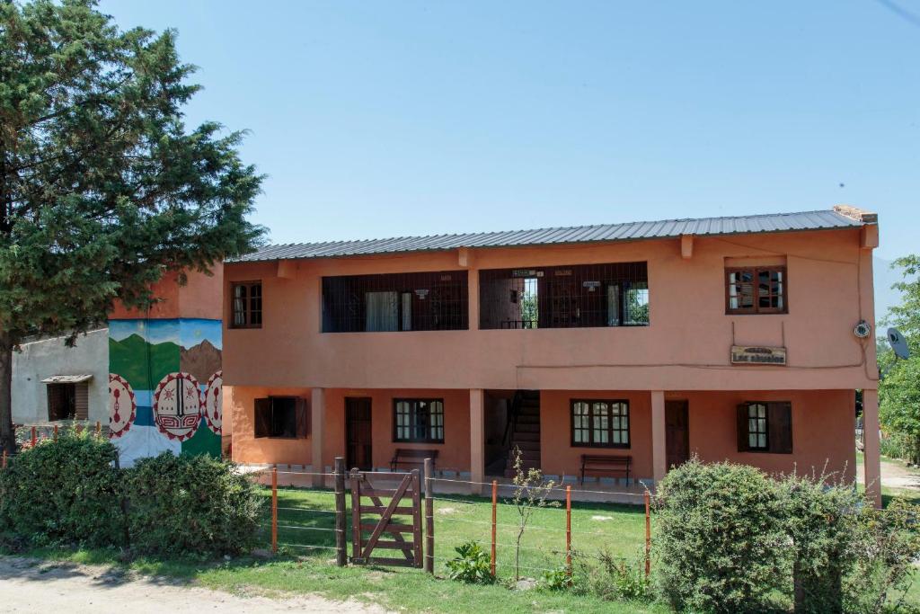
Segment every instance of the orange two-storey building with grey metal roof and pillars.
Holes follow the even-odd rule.
[[[878,499],[878,237],[840,206],[259,249],[224,270],[233,458],[415,449],[485,481],[517,446],[602,487],[691,455],[853,479],[861,389]]]

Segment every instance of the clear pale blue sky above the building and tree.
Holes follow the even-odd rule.
[[[251,134],[274,242],[852,203],[920,251],[920,19],[834,2],[107,0]],[[920,1],[897,6],[920,15]]]

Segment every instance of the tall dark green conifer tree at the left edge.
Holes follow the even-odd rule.
[[[0,0],[0,444],[12,353],[76,336],[113,300],[144,305],[167,270],[245,253],[261,177],[242,133],[187,129],[199,87],[176,33],[122,31],[93,0]]]

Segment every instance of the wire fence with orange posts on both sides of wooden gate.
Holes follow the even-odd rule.
[[[369,517],[362,507],[356,517],[351,474],[343,467],[341,473],[262,469],[249,475],[270,500],[260,523],[260,541],[266,549],[297,557],[335,557],[340,564],[364,562],[365,553],[356,551],[353,541],[351,547],[347,543],[355,531],[366,535],[380,520],[381,510],[389,503],[386,499],[397,492],[401,478],[394,472],[361,472],[362,480],[369,481],[369,492],[383,501],[374,508],[377,516]],[[542,504],[529,506],[519,504],[521,497],[514,496],[526,492],[507,482],[430,477],[422,483],[424,500],[420,506],[424,514],[421,509],[417,512],[424,527],[418,528],[417,535],[424,530],[423,566],[431,573],[444,573],[445,564],[457,557],[455,549],[469,541],[488,550],[491,571],[499,577],[570,573],[573,557],[596,558],[601,552],[623,559],[644,557],[646,570],[650,568],[647,490],[554,487],[543,493],[562,494],[561,501],[547,498]],[[326,484],[334,487],[329,489]],[[452,493],[458,485],[474,493]],[[476,492],[484,491],[491,491],[490,499],[477,496]],[[615,497],[621,503],[584,501],[586,495]],[[404,499],[399,505],[411,502]],[[358,543],[365,544],[366,539]]]

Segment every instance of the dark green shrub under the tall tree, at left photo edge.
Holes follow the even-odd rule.
[[[95,434],[65,431],[9,459],[0,471],[0,523],[22,545],[121,545],[117,451]]]

